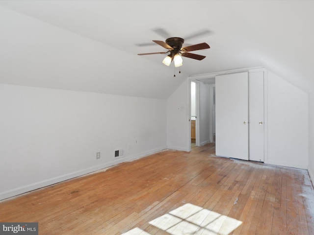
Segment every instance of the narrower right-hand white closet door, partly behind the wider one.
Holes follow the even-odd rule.
[[[264,72],[249,73],[249,159],[264,162]]]

